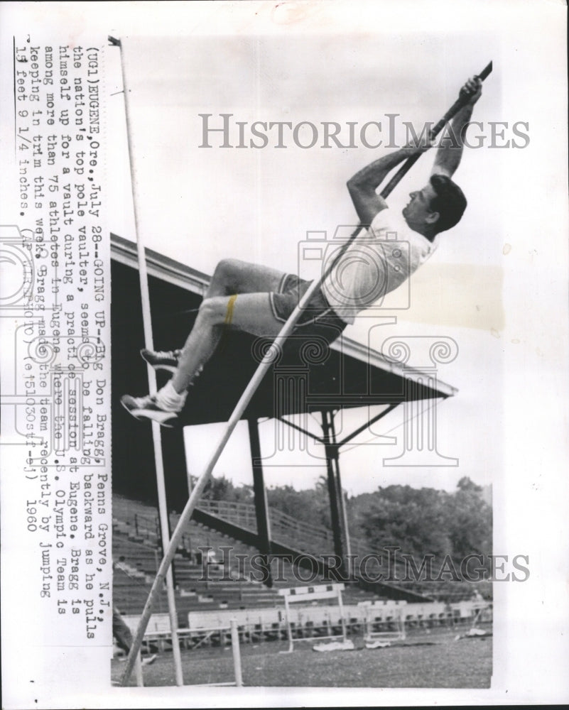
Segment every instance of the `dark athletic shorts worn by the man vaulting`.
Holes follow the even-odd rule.
[[[286,323],[311,283],[312,281],[306,281],[293,273],[283,274],[278,290],[269,293],[271,310],[276,320]],[[322,335],[331,343],[346,326],[347,322],[336,314],[322,289],[318,289],[300,314],[293,333]]]

